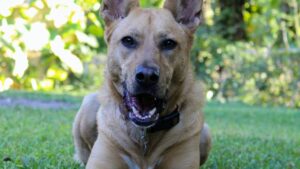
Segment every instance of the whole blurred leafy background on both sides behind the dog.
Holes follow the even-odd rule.
[[[299,4],[206,0],[191,59],[208,100],[300,107]],[[106,62],[99,8],[98,0],[1,0],[0,92],[97,90]]]

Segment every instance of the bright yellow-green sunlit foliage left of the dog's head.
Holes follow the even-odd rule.
[[[0,84],[3,89],[50,90],[61,86],[73,89],[102,81],[103,66],[99,63],[105,57],[99,53],[105,51],[105,44],[98,15],[100,2],[14,0],[1,3]]]

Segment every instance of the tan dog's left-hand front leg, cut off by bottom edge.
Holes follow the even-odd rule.
[[[127,169],[120,151],[105,136],[99,135],[86,169]]]

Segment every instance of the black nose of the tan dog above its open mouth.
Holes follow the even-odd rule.
[[[135,80],[142,86],[152,86],[159,80],[159,70],[155,67],[138,66],[135,70]]]

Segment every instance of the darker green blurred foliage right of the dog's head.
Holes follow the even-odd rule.
[[[299,7],[296,1],[245,1],[240,23],[245,37],[237,32],[241,27],[226,29],[220,22],[236,21],[233,11],[220,12],[217,1],[206,6],[211,14],[197,32],[192,60],[209,98],[300,107],[300,15],[283,5],[294,11]]]

